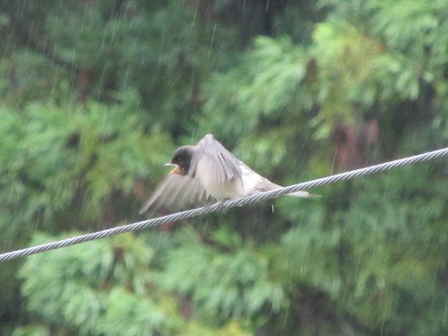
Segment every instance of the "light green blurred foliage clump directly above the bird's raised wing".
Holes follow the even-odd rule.
[[[263,117],[275,123],[291,110],[311,108],[309,92],[299,85],[305,76],[303,49],[287,38],[258,38],[241,65],[205,87],[205,113],[224,136],[232,125],[240,126],[238,134],[256,132]]]

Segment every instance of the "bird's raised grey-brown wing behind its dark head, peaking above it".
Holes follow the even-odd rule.
[[[205,135],[197,143],[190,171],[193,176],[197,174],[217,183],[241,180],[238,159],[211,134]]]

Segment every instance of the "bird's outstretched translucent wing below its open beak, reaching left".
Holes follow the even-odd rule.
[[[157,187],[151,198],[140,209],[140,214],[148,210],[168,211],[183,209],[187,206],[205,202],[209,194],[201,182],[193,177],[169,174]]]

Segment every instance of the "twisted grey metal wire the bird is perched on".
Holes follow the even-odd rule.
[[[415,155],[415,156],[405,158],[405,159],[396,159],[394,161],[385,162],[385,163],[367,167],[367,168],[361,168],[361,169],[357,169],[357,170],[348,171],[348,172],[341,173],[338,175],[333,175],[331,177],[323,177],[323,178],[319,178],[319,179],[316,179],[313,181],[299,183],[297,185],[289,185],[289,186],[281,187],[279,189],[271,190],[269,192],[253,194],[250,196],[237,198],[235,200],[230,200],[230,201],[224,202],[222,204],[217,202],[217,203],[214,203],[209,206],[202,207],[202,208],[177,212],[177,213],[173,213],[168,216],[158,217],[158,218],[151,219],[151,220],[143,220],[143,221],[139,221],[139,222],[136,222],[133,224],[128,224],[128,225],[125,225],[122,227],[108,228],[108,229],[105,229],[105,230],[102,230],[99,232],[94,232],[94,233],[89,233],[89,234],[82,235],[82,236],[67,238],[64,240],[59,240],[56,242],[47,243],[47,244],[43,244],[43,245],[39,245],[39,246],[28,247],[28,248],[24,248],[22,250],[17,250],[17,251],[13,251],[13,252],[0,254],[0,263],[5,262],[7,260],[12,260],[12,259],[28,256],[31,254],[39,254],[42,252],[55,250],[57,248],[62,248],[62,247],[66,247],[66,246],[73,246],[76,244],[85,243],[85,242],[88,242],[91,240],[102,239],[105,237],[112,237],[112,236],[116,236],[116,235],[119,235],[119,234],[122,234],[125,232],[137,231],[137,230],[141,230],[143,228],[151,228],[151,227],[155,227],[155,226],[158,226],[160,224],[163,224],[163,223],[166,223],[169,221],[185,220],[187,218],[201,216],[201,215],[211,213],[214,211],[219,211],[219,210],[225,211],[230,208],[237,207],[237,206],[242,206],[242,205],[246,205],[246,204],[250,204],[250,203],[254,203],[254,202],[264,201],[269,198],[279,197],[281,195],[294,193],[294,192],[297,192],[300,190],[310,189],[315,186],[329,185],[329,184],[332,184],[335,182],[345,181],[345,180],[348,180],[348,179],[354,178],[354,177],[364,177],[366,175],[375,174],[375,173],[386,171],[386,170],[391,170],[393,168],[412,165],[414,163],[428,161],[430,159],[437,159],[437,158],[446,157],[446,156],[448,156],[448,148],[444,148],[444,149],[438,150],[438,151],[429,151],[429,152]]]

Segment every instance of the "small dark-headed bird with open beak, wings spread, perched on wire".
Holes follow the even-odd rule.
[[[141,214],[150,209],[191,206],[207,200],[210,195],[223,202],[281,187],[237,159],[212,134],[205,135],[194,146],[178,148],[165,166],[175,168],[142,206]],[[288,195],[320,197],[303,191]]]

